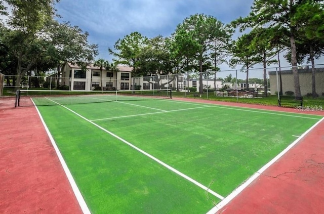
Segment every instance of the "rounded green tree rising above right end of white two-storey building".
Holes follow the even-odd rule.
[[[123,39],[118,39],[114,45],[114,50],[108,48],[108,52],[116,57],[119,64],[128,65],[136,72],[138,68],[139,55],[147,46],[147,37],[139,32],[132,32]]]

